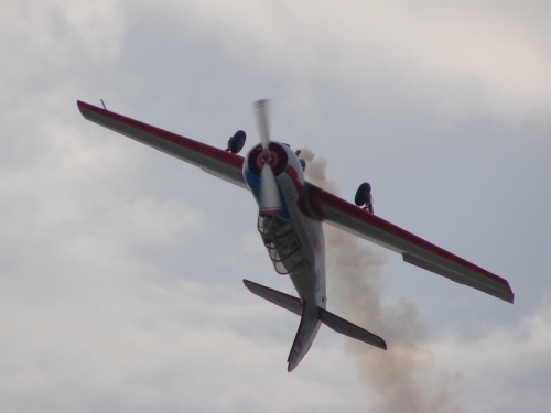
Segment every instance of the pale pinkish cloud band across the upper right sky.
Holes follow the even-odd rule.
[[[228,57],[245,66],[361,90],[381,116],[397,97],[430,102],[452,122],[483,112],[516,124],[551,107],[543,3],[192,2],[166,10],[201,20],[199,33],[224,30]]]

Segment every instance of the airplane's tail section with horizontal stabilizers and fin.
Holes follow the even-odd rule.
[[[307,303],[303,303],[300,298],[253,283],[252,281],[244,280],[242,282],[252,294],[256,294],[259,297],[268,300],[270,303],[279,305],[282,308],[301,316],[301,324],[288,358],[289,371],[292,371],[309,351],[317,330],[320,329],[321,323],[345,336],[367,343],[383,350],[387,349],[387,344],[379,336],[376,336],[375,334],[369,333],[368,330],[365,330],[364,328],[358,327],[357,325],[352,324],[350,322],[347,322],[346,319],[341,318],[324,308],[317,307],[316,305],[309,305]]]

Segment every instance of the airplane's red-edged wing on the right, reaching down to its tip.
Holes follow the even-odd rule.
[[[403,261],[432,271],[460,284],[514,302],[504,280],[451,252],[408,232],[356,205],[305,183],[305,197],[313,213],[327,224],[402,254]]]

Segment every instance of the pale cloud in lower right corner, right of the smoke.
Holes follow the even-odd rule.
[[[444,369],[468,371],[469,412],[543,413],[551,396],[551,305],[549,297],[519,323],[487,326],[477,338],[446,330],[431,348]]]

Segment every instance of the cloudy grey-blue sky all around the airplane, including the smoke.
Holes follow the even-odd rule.
[[[551,3],[0,14],[2,412],[548,411]],[[377,215],[507,279],[515,304],[328,228],[327,308],[389,350],[322,327],[288,373],[299,318],[241,283],[293,293],[251,195],[76,108],[222,149],[244,129],[246,151],[260,98],[311,174],[350,202],[368,181]]]

